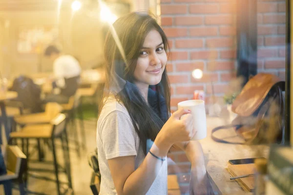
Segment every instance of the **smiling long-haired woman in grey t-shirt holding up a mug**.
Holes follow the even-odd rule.
[[[196,170],[193,182],[202,183],[206,169],[199,143],[189,141],[196,133],[190,111],[169,117],[164,31],[141,12],[118,19],[113,28],[116,33],[105,41],[106,83],[97,126],[101,195],[167,195],[172,146],[186,151]]]

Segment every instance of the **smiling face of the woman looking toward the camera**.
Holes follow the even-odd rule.
[[[156,85],[161,81],[167,63],[167,54],[160,33],[151,30],[144,41],[134,70],[134,83],[138,87]]]

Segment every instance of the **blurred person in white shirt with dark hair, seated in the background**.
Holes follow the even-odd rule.
[[[70,55],[63,55],[60,50],[50,45],[44,55],[53,61],[53,94],[45,98],[45,102],[67,103],[79,86],[81,67],[79,61]]]

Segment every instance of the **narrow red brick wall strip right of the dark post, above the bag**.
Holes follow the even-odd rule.
[[[258,0],[258,72],[285,80],[286,0]]]

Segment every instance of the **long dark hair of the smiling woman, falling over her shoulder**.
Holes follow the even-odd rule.
[[[167,120],[163,116],[169,116],[170,86],[165,68],[160,83],[154,86],[157,91],[158,111],[148,105],[141,92],[133,84],[133,73],[148,32],[155,29],[160,33],[166,52],[168,51],[167,37],[156,19],[150,13],[145,12],[133,12],[116,20],[112,29],[115,30],[114,35],[113,30],[112,33],[109,31],[105,40],[106,82],[102,102],[99,106],[99,116],[105,99],[109,95],[114,95],[126,107],[146,155],[146,140],[156,138]],[[115,36],[116,40],[119,38],[120,48],[123,51],[119,50]],[[166,113],[161,113],[163,111],[160,110],[162,103],[160,99],[164,99],[165,107],[167,107],[164,110]]]

